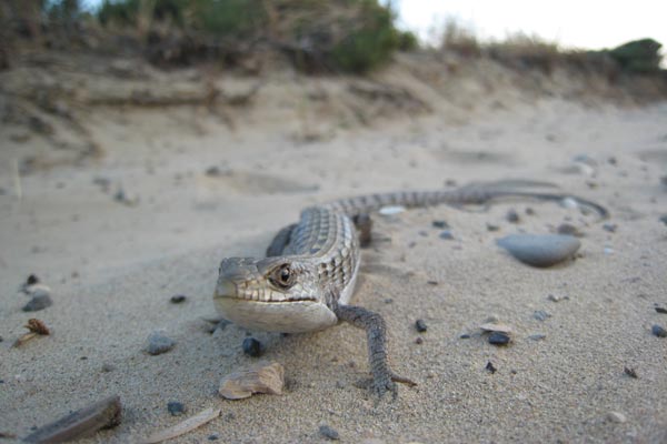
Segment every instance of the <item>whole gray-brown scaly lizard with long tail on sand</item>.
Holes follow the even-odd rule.
[[[505,180],[449,191],[367,194],[306,208],[298,223],[276,234],[266,258],[226,258],[220,262],[213,293],[216,307],[227,320],[250,330],[302,333],[340,321],[364,329],[372,375],[370,389],[378,397],[387,391],[396,397],[397,382],[415,382],[396,374],[389,365],[382,316],[350,304],[360,264],[356,223],[368,222],[370,212],[390,205],[487,204],[500,198],[569,199],[594,210],[601,219],[608,215],[604,206],[575,195],[525,190],[536,186],[554,185]]]

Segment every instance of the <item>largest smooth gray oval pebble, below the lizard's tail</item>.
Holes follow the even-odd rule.
[[[510,234],[499,239],[498,245],[528,265],[551,266],[571,258],[581,242],[564,234]]]

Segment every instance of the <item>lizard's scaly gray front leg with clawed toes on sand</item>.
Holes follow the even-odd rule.
[[[372,374],[372,391],[382,396],[388,390],[396,398],[396,382],[417,385],[415,382],[394,373],[387,359],[387,327],[385,320],[377,313],[361,306],[339,305],[334,310],[339,320],[366,330],[368,340],[368,361]]]

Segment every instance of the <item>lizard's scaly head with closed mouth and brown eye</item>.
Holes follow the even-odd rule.
[[[226,319],[252,330],[298,333],[337,322],[317,270],[290,258],[228,258],[213,294]]]

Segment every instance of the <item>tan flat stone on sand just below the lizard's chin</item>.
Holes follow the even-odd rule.
[[[225,376],[220,381],[218,393],[227,400],[242,400],[253,393],[282,394],[285,369],[275,362],[241,370]]]

